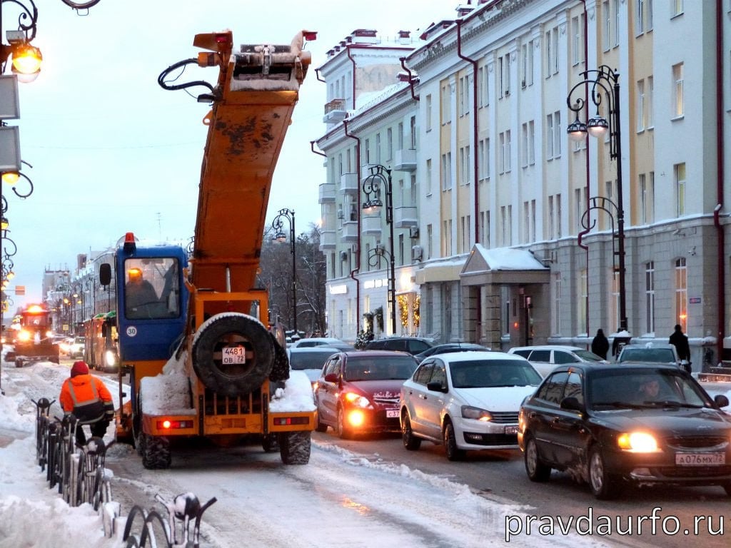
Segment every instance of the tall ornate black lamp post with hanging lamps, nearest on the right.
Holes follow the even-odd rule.
[[[617,161],[617,259],[618,267],[616,272],[619,278],[619,329],[629,331],[627,327],[626,312],[626,268],[624,264],[624,202],[622,200],[622,151],[621,132],[619,123],[619,73],[610,69],[607,65],[599,66],[598,69],[586,70],[581,73],[583,80],[569,91],[566,102],[569,109],[576,114],[576,119],[567,127],[567,133],[572,140],[579,141],[586,139],[586,134],[593,137],[604,137],[609,131],[610,159]],[[572,100],[572,94],[582,85],[587,86],[586,95],[596,107],[596,115],[589,118],[586,123],[579,120],[579,113],[585,106],[587,99],[577,95]],[[604,118],[599,113],[602,101],[606,99],[609,118]]]

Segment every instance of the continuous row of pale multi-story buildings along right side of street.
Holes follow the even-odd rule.
[[[496,349],[681,324],[694,369],[725,357],[730,10],[480,1],[408,44],[341,42],[319,68],[331,332],[379,307],[386,334]],[[605,139],[569,140],[595,115]],[[363,209],[374,164],[392,224]]]

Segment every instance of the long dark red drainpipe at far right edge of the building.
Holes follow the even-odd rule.
[[[726,331],[726,265],[724,247],[726,237],[724,227],[721,225],[720,212],[724,203],[724,2],[716,0],[716,197],[718,203],[713,209],[713,227],[716,227],[718,245],[716,248],[717,261],[719,263],[716,283],[718,284],[718,315],[719,326],[716,334],[716,355],[718,363],[721,362],[724,350],[724,332]],[[702,365],[701,365],[702,368]]]

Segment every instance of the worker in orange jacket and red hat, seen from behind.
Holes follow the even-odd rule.
[[[71,376],[64,381],[58,401],[64,413],[73,413],[76,425],[76,442],[86,444],[82,425],[91,427],[91,435],[103,438],[114,418],[112,395],[102,379],[89,373],[86,362],[74,362]]]

